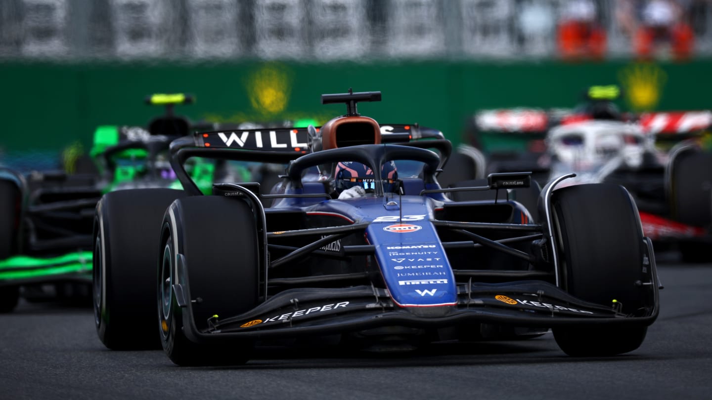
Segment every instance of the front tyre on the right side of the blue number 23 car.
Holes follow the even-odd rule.
[[[622,312],[639,315],[646,293],[643,233],[638,211],[628,192],[614,184],[582,184],[554,191],[562,283],[577,298],[600,305],[616,300]],[[579,325],[555,327],[559,347],[570,356],[611,356],[642,344],[642,325]]]

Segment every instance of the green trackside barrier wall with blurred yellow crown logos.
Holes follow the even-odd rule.
[[[281,120],[345,112],[320,94],[380,90],[359,111],[379,122],[418,122],[459,142],[468,115],[491,107],[572,107],[587,85],[617,83],[624,110],[712,108],[712,60],[691,63],[0,63],[0,149],[90,145],[97,125],[145,125],[162,112],[150,93],[186,92],[193,120]],[[86,148],[85,147],[85,148]]]

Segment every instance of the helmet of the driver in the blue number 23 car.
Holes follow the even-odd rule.
[[[373,171],[360,162],[340,162],[336,166],[335,189],[341,193],[353,186],[361,186],[366,193],[375,191],[375,179]],[[385,162],[381,167],[381,179],[383,181],[383,191],[394,193],[398,189],[398,172],[396,164],[392,161]]]

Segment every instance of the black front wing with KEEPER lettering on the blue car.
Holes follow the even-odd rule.
[[[652,272],[656,279],[656,273]],[[183,310],[185,333],[194,342],[330,335],[394,325],[441,328],[467,322],[545,328],[597,324],[647,326],[659,312],[658,286],[652,285],[652,290],[653,307],[639,315],[623,315],[615,302],[610,307],[584,302],[540,280],[461,284],[456,305],[438,307],[399,307],[387,290],[372,286],[293,289],[243,315],[224,319],[213,316],[207,329],[198,330],[186,288],[174,285],[178,305]],[[422,295],[431,295],[427,292],[422,290]]]

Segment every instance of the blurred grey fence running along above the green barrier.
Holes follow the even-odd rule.
[[[0,59],[557,58],[557,24],[576,1],[2,0]],[[607,34],[605,55],[633,56],[625,1],[584,1]],[[678,3],[693,55],[711,56],[711,1]]]

